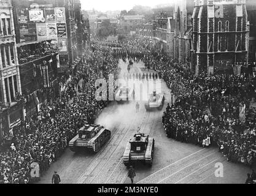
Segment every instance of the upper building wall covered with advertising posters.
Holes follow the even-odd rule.
[[[59,72],[76,66],[77,20],[75,0],[13,0],[18,46],[51,41],[59,49]],[[80,7],[78,7],[80,9]],[[75,65],[74,65],[75,64]]]

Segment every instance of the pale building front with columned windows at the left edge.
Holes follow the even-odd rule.
[[[23,120],[20,70],[11,1],[0,1],[0,140]]]

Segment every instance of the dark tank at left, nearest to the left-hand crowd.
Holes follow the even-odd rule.
[[[79,133],[69,141],[69,149],[77,152],[81,148],[98,152],[99,149],[111,138],[111,131],[104,129],[99,124],[85,125]]]

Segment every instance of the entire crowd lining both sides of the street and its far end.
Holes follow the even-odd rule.
[[[228,161],[252,166],[256,124],[251,116],[256,110],[250,108],[250,100],[255,96],[255,78],[195,75],[185,64],[147,46],[143,39],[92,42],[85,64],[66,84],[62,99],[42,106],[5,138],[10,149],[0,153],[0,183],[30,183],[33,162],[39,164],[43,173],[60,157],[80,127],[94,123],[109,103],[95,99],[95,80],[107,81],[109,74],[117,79],[118,59],[144,62],[145,69],[155,70],[154,77],[163,78],[175,94],[175,104],[168,104],[162,119],[168,137],[204,148],[217,145]],[[77,86],[80,80],[82,88]]]

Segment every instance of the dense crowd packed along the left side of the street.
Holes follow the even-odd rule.
[[[31,164],[38,163],[40,173],[44,173],[80,127],[94,123],[108,104],[95,99],[95,80],[102,77],[107,80],[110,73],[116,78],[118,59],[111,55],[109,48],[102,50],[98,43],[91,45],[93,51],[86,57],[85,65],[77,68],[76,75],[68,81],[62,99],[42,106],[4,138],[5,143],[10,143],[10,149],[0,153],[0,183],[31,183]],[[77,89],[80,80],[83,85]]]

